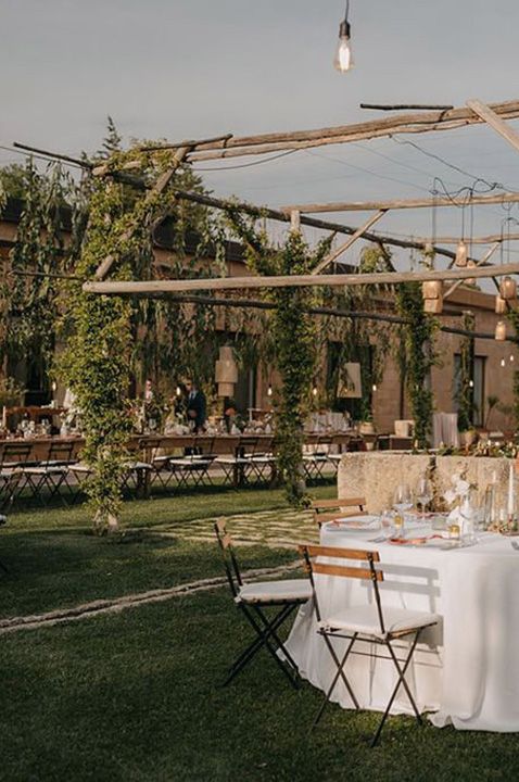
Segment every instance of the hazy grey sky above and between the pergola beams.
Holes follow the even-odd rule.
[[[343,15],[337,0],[0,0],[0,144],[93,152],[109,114],[125,141],[173,141],[382,116],[360,102],[519,98],[517,0],[351,0],[356,64],[345,75],[332,67]],[[18,157],[0,149],[0,165]],[[450,192],[476,179],[519,190],[519,152],[488,127],[321,147],[229,168],[256,160],[195,169],[217,195],[270,206],[426,197],[435,178]],[[438,210],[436,231],[457,236],[464,222],[466,235],[470,225],[474,236],[498,234],[507,214],[501,205],[464,217]],[[517,205],[510,214],[519,218]],[[355,226],[366,215],[331,218]],[[432,215],[391,213],[377,229],[427,236]]]

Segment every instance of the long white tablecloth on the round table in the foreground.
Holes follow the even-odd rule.
[[[463,730],[519,731],[519,552],[509,539],[492,533],[453,551],[369,542],[377,534],[324,525],[321,543],[377,550],[385,577],[382,604],[443,616],[442,627],[427,631],[406,676],[418,707],[435,711],[431,720],[438,727],[452,722]],[[324,616],[372,600],[369,582],[316,578]],[[334,641],[339,654],[342,643]],[[316,632],[311,604],[301,608],[288,647],[301,674],[326,690],[337,669]],[[360,706],[383,710],[395,682],[393,664],[353,656],[347,671]],[[332,699],[352,707],[341,681]],[[412,714],[402,690],[392,714]]]

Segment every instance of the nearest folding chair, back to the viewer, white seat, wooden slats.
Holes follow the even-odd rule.
[[[409,698],[417,721],[421,723],[421,716],[418,711],[418,707],[415,698],[413,697],[409,685],[405,680],[405,673],[422,630],[436,625],[440,621],[440,617],[436,614],[409,610],[407,608],[387,607],[382,609],[379,582],[383,581],[384,578],[382,570],[375,567],[376,564],[380,562],[378,552],[364,551],[359,548],[336,548],[334,546],[315,545],[301,545],[300,552],[303,554],[306,570],[308,571],[312,584],[312,594],[318,625],[317,632],[324,638],[330,655],[337,666],[337,673],[334,674],[328,692],[325,695],[325,699],[317,712],[312,728],[315,728],[320,720],[326,706],[330,702],[330,697],[339,679],[341,679],[344,683],[355,708],[359,708],[358,701],[355,697],[352,685],[344,672],[350,654],[359,654],[380,659],[391,659],[393,660],[396,670],[396,684],[391,693],[385,711],[382,715],[375,736],[371,740],[371,746],[375,746],[380,737],[382,728],[384,727],[388,715],[401,686],[404,688],[407,697]],[[322,557],[350,560],[350,563],[351,560],[355,560],[357,567],[352,567],[351,564],[327,564],[322,562]],[[320,610],[316,591],[316,575],[330,576],[333,578],[356,578],[369,580],[372,586],[375,604],[367,603],[360,606],[352,606],[333,611],[330,617],[324,616]],[[333,639],[343,639],[347,641],[342,659],[339,658],[336,648],[332,645]],[[410,641],[407,655],[404,659],[398,659],[396,657],[396,652],[392,646],[392,642],[397,639],[409,639]],[[380,646],[384,646],[389,654],[380,655],[374,652],[358,652],[355,648],[355,645],[358,643],[378,644]]]

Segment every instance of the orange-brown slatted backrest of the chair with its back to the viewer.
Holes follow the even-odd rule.
[[[384,630],[384,620],[382,616],[382,605],[380,602],[379,581],[383,581],[383,572],[375,567],[376,563],[380,562],[379,553],[376,551],[366,551],[364,548],[337,548],[336,546],[321,546],[321,545],[300,545],[300,553],[303,555],[305,568],[308,572],[309,580],[312,583],[312,590],[315,602],[315,609],[317,620],[320,621],[320,608],[319,601],[315,588],[315,575],[331,576],[339,578],[354,578],[363,579],[371,582],[375,594],[375,602],[377,605],[377,613],[380,622],[381,632]],[[346,563],[356,562],[359,563],[357,566],[351,564],[337,565],[331,563],[322,562],[321,557],[329,557],[333,559],[343,559]],[[363,564],[365,564],[363,566]]]

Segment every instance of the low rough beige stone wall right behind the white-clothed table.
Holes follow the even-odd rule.
[[[509,467],[510,459],[507,458],[400,452],[346,453],[339,465],[338,496],[365,496],[368,513],[380,513],[392,506],[398,483],[407,483],[413,491],[418,479],[429,470],[436,497],[452,488],[452,478],[458,474],[477,487],[480,501],[494,480],[506,499]]]

